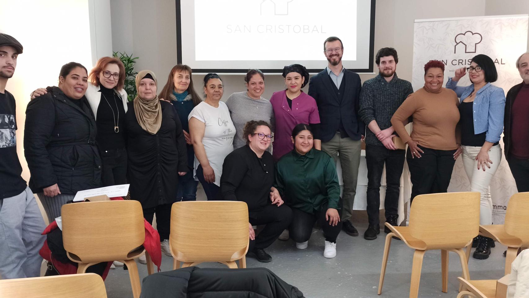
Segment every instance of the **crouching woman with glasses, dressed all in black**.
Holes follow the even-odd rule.
[[[291,210],[283,205],[279,192],[273,187],[274,167],[270,152],[270,124],[249,121],[244,125],[246,145],[232,151],[224,159],[221,176],[223,200],[248,204],[250,248],[257,260],[267,263],[272,257],[265,248],[279,237],[290,224]],[[252,225],[265,225],[256,236]]]

